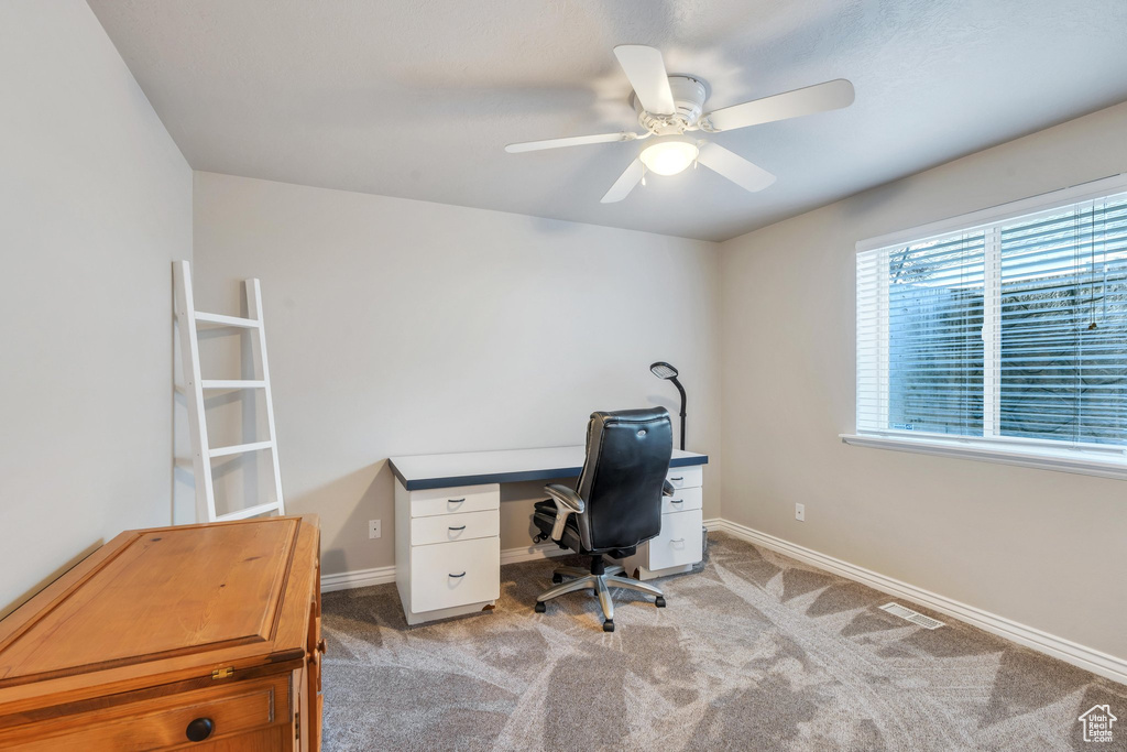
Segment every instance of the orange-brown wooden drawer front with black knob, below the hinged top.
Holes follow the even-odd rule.
[[[20,726],[0,732],[0,747],[90,752],[190,746],[188,726],[197,719],[210,720],[212,725],[206,740],[201,741],[223,740],[266,728],[276,718],[289,717],[287,676],[172,695]],[[197,723],[194,728],[201,726]]]

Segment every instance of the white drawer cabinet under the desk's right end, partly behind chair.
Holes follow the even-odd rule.
[[[627,574],[639,580],[689,572],[703,556],[704,468],[669,468],[666,478],[674,493],[662,502],[662,532],[622,561]]]

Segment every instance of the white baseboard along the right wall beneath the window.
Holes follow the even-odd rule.
[[[715,527],[710,527],[709,523],[713,523]],[[1024,645],[1026,647],[1030,647],[1039,653],[1051,655],[1055,658],[1059,658],[1074,666],[1091,671],[1094,674],[1106,676],[1112,681],[1127,684],[1127,661],[1124,658],[1079,645],[1072,640],[1064,639],[1063,637],[1049,635],[1040,629],[1018,623],[1017,621],[1012,621],[1004,617],[1000,617],[988,611],[983,611],[982,609],[967,605],[966,603],[960,603],[959,601],[943,595],[938,595],[921,587],[916,587],[915,585],[900,582],[899,580],[886,577],[882,574],[859,567],[854,564],[850,564],[849,561],[835,559],[832,556],[819,554],[809,548],[791,543],[790,541],[775,538],[774,536],[769,536],[765,532],[760,532],[758,530],[753,530],[752,528],[745,528],[744,525],[729,522],[728,520],[708,520],[704,524],[709,528],[709,530],[726,532],[735,538],[746,540],[747,542],[755,543],[756,546],[762,546],[763,548],[769,548],[793,559],[798,559],[799,561],[818,567],[819,569],[825,569],[826,572],[832,572],[833,574],[842,577],[860,582],[869,587],[872,587],[873,590],[879,590],[884,593],[889,593],[890,595],[903,598],[907,601],[914,601],[921,605],[939,611],[940,613],[953,617],[959,621],[964,621],[968,625],[997,635],[999,637],[1018,643],[1019,645]]]

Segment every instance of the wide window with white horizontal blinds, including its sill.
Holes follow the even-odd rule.
[[[1127,477],[1127,180],[859,244],[857,317],[850,443]]]

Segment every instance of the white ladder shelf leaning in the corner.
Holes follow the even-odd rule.
[[[258,280],[243,280],[243,293],[247,299],[249,318],[204,313],[195,309],[192,297],[192,269],[187,262],[172,263],[172,276],[176,286],[176,320],[180,330],[180,352],[184,362],[185,397],[188,408],[188,433],[192,436],[192,465],[196,483],[197,519],[207,522],[229,520],[246,520],[277,512],[285,514],[282,499],[282,471],[278,468],[277,434],[274,432],[274,399],[270,395],[270,371],[266,361],[266,329],[263,326],[263,295]],[[236,329],[254,329],[257,331],[260,379],[203,379],[199,374],[199,327],[231,327]],[[205,391],[261,389],[266,401],[266,425],[269,437],[266,441],[255,441],[232,446],[210,446],[207,440],[207,410],[204,402]],[[274,463],[274,499],[246,508],[215,513],[215,488],[212,481],[211,461],[216,457],[230,457],[250,452],[268,451]]]

